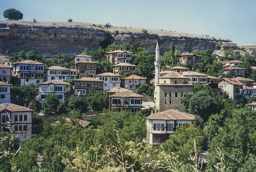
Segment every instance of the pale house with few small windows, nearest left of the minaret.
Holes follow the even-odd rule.
[[[122,79],[122,85],[125,89],[136,91],[136,86],[140,84],[145,84],[147,78],[131,75]]]

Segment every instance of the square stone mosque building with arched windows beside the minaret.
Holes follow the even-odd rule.
[[[193,84],[188,82],[188,77],[177,72],[172,72],[159,78],[156,83],[154,99],[156,108],[160,112],[170,109],[183,110],[181,98],[185,93],[193,93]]]

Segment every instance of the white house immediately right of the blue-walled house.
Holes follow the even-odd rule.
[[[69,71],[71,69],[62,68],[60,66],[51,66],[46,68],[46,81],[50,80],[59,80],[59,81],[66,81],[68,80]]]

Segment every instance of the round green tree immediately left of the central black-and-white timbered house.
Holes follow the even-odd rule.
[[[86,100],[93,111],[100,111],[103,108],[108,108],[109,99],[105,91],[93,91],[92,95],[87,96]]]

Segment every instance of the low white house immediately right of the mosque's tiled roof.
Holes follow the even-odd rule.
[[[208,75],[204,75],[199,72],[187,71],[187,72],[182,72],[182,75],[188,77],[189,83],[198,83],[198,82],[207,83]]]

